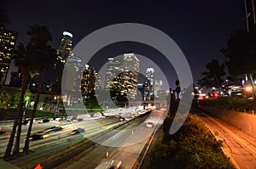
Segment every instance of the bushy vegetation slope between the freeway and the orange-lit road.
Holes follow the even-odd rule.
[[[173,117],[167,117],[162,137],[149,156],[151,168],[235,168],[197,115],[189,113],[175,134],[169,129]]]

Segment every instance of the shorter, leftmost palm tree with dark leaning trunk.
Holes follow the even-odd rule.
[[[17,50],[15,50],[15,54],[14,54],[14,58],[15,58],[15,65],[18,66],[21,76],[22,76],[22,82],[21,82],[21,92],[20,92],[20,102],[19,102],[19,106],[17,109],[17,115],[15,116],[15,122],[14,122],[14,126],[9,138],[9,144],[7,145],[5,154],[4,154],[4,159],[9,159],[10,155],[11,155],[11,151],[12,151],[12,147],[14,144],[14,140],[15,140],[15,132],[16,132],[16,128],[19,125],[20,126],[20,131],[21,131],[21,121],[22,121],[22,116],[23,116],[23,104],[24,104],[24,96],[26,93],[26,80],[28,77],[28,72],[31,70],[31,58],[30,56],[27,54],[27,48],[24,47],[24,45],[22,43],[20,43],[17,47]],[[17,138],[18,141],[20,142],[20,133],[18,131],[17,133]],[[19,145],[16,145],[16,149],[19,148]]]

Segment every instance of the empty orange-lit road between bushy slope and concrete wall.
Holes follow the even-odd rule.
[[[256,168],[256,138],[218,117],[202,111],[199,115],[212,133],[224,142],[224,151],[231,157],[231,161],[237,165],[237,168]]]

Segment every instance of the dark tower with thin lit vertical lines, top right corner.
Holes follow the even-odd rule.
[[[247,31],[252,31],[256,26],[255,19],[255,0],[244,0],[246,21],[247,21]]]

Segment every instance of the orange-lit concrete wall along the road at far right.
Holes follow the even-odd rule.
[[[200,108],[212,115],[218,116],[218,118],[238,127],[243,132],[247,132],[253,138],[256,138],[256,115],[241,113],[235,110],[220,110],[218,108],[205,105],[200,106]]]

